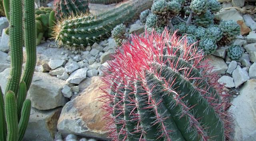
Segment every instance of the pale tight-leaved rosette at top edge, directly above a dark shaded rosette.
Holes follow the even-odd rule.
[[[190,3],[190,9],[196,14],[201,15],[208,9],[208,0],[192,0]]]

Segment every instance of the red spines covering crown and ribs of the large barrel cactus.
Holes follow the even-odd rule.
[[[219,95],[222,97],[220,103],[216,103],[217,100],[220,99],[214,99],[214,95],[211,93],[208,93],[205,89],[197,88],[197,90],[201,91],[202,96],[208,100],[208,103],[212,107],[214,107],[216,113],[218,113],[219,117],[224,122],[225,127],[225,134],[226,138],[229,138],[229,132],[230,132],[230,114],[226,111],[226,109],[230,106],[230,103],[226,100],[225,97],[229,96],[226,91],[224,91],[224,86],[218,84],[217,80],[217,74],[216,73],[209,73],[212,71],[213,67],[208,64],[208,60],[204,60],[204,55],[200,52],[198,52],[198,49],[194,47],[194,44],[188,46],[186,44],[186,40],[180,39],[180,37],[176,36],[176,32],[172,34],[172,36],[169,36],[169,32],[165,29],[162,34],[156,34],[155,32],[152,32],[152,34],[149,34],[145,32],[144,36],[133,36],[132,37],[132,44],[131,43],[125,43],[122,45],[122,48],[120,48],[116,55],[114,55],[114,60],[108,62],[109,67],[108,70],[105,73],[105,76],[102,77],[102,81],[106,84],[104,87],[101,87],[102,91],[105,93],[105,95],[102,96],[102,101],[105,103],[102,107],[105,111],[107,111],[107,114],[104,116],[105,119],[108,119],[110,122],[108,122],[108,125],[106,125],[106,128],[109,129],[109,135],[113,139],[113,141],[119,141],[118,140],[118,134],[116,131],[115,124],[122,123],[123,128],[119,132],[119,134],[123,134],[125,137],[123,141],[126,140],[126,137],[128,134],[125,130],[126,121],[123,119],[118,119],[118,116],[114,117],[112,116],[114,107],[120,109],[120,115],[124,112],[124,106],[120,103],[123,101],[119,101],[115,105],[112,105],[114,103],[115,95],[112,95],[109,93],[110,89],[112,91],[117,91],[120,89],[120,87],[117,87],[118,84],[124,85],[124,87],[127,88],[127,86],[132,87],[132,89],[136,89],[134,85],[130,85],[129,83],[134,83],[136,81],[141,81],[143,83],[146,83],[145,73],[146,71],[150,71],[155,73],[155,76],[158,77],[158,79],[161,79],[165,82],[164,91],[172,91],[172,85],[175,83],[174,81],[166,80],[157,73],[157,71],[154,70],[154,68],[151,67],[151,64],[158,63],[164,65],[165,63],[163,60],[161,60],[161,56],[164,54],[164,48],[167,47],[167,54],[170,56],[176,56],[178,53],[178,50],[183,50],[183,54],[180,55],[180,59],[185,61],[191,61],[193,60],[194,64],[193,67],[202,70],[202,76],[203,77],[191,77],[191,69],[188,68],[179,68],[177,64],[170,64],[170,68],[176,71],[183,71],[183,77],[187,80],[194,80],[194,85],[199,85],[201,79],[207,79],[209,85],[214,87]],[[171,45],[169,44],[171,43]],[[173,48],[178,48],[178,50],[174,50]],[[158,58],[158,59],[156,59]],[[168,60],[169,62],[172,62],[172,60]],[[111,72],[111,73],[109,73]],[[150,93],[152,89],[150,89],[146,84],[142,85],[143,89],[147,91],[147,93],[144,93],[148,96],[148,107],[145,108],[154,108],[155,114],[156,114],[156,123],[162,124],[162,128],[160,129],[159,137],[165,137],[166,141],[173,141],[171,137],[169,136],[169,133],[171,133],[171,130],[168,130],[165,128],[164,125],[164,117],[161,117],[161,115],[158,114],[158,109],[156,108],[157,105],[161,101],[154,101],[150,97]],[[175,91],[172,91],[175,93]],[[119,92],[118,95],[120,95],[120,99],[123,99],[125,96],[124,93]],[[176,103],[182,105],[183,107],[183,113],[181,113],[180,116],[188,115],[191,117],[190,126],[195,127],[198,131],[198,135],[202,136],[203,141],[209,141],[209,137],[205,136],[205,131],[202,128],[202,126],[198,126],[198,119],[195,119],[192,115],[188,113],[190,108],[187,107],[186,104],[182,102],[183,97],[180,97],[178,93],[176,93]],[[140,127],[140,114],[136,111],[136,106],[138,101],[136,99],[129,99],[130,104],[134,105],[134,109],[130,113],[134,117],[134,121],[138,122],[138,125],[136,128],[134,128],[134,132],[140,132],[140,133],[146,133],[146,131],[143,131],[143,129]],[[112,105],[112,106],[110,106]],[[138,141],[144,141],[142,134]]]

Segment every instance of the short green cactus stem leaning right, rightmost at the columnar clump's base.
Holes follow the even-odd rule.
[[[19,122],[19,139],[18,141],[22,141],[26,128],[28,126],[28,120],[30,117],[30,109],[31,109],[31,101],[30,99],[26,99],[22,105],[21,118]]]

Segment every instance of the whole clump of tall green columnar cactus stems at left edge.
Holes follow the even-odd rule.
[[[31,107],[31,101],[26,99],[26,93],[36,65],[35,9],[34,1],[31,0],[10,0],[9,4],[11,68],[4,97],[0,88],[0,141],[22,141]],[[24,4],[23,12],[20,4]],[[8,11],[8,8],[5,11]],[[22,75],[23,33],[27,62]]]

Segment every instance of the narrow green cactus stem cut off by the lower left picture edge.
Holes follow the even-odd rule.
[[[0,141],[6,139],[6,122],[4,113],[4,95],[0,86]]]

